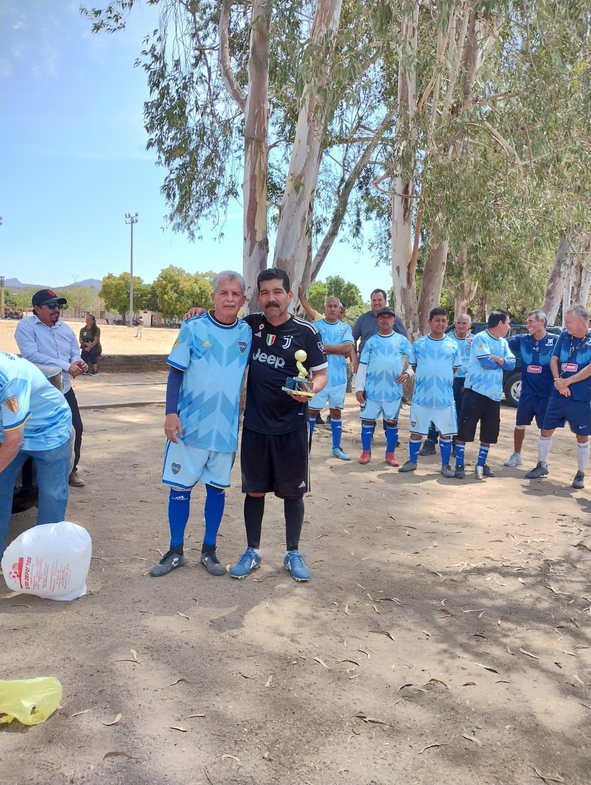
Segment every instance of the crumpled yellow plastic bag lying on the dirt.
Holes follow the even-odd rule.
[[[0,725],[15,717],[23,725],[39,725],[60,707],[61,684],[54,676],[0,679]]]

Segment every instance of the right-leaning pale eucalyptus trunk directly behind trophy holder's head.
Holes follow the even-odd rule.
[[[322,93],[331,82],[332,38],[339,28],[342,7],[343,0],[318,0],[316,6],[310,42],[316,52],[324,53],[324,61],[318,77],[304,87],[277,225],[273,264],[288,273],[294,291],[303,279],[308,257],[309,206],[314,200],[328,120]]]

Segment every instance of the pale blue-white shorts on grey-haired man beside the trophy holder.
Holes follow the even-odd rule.
[[[162,481],[187,491],[197,482],[228,488],[235,457],[235,452],[201,450],[182,441],[177,444],[167,441]]]

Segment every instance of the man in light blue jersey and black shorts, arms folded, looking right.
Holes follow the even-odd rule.
[[[464,450],[466,442],[474,441],[476,425],[480,423],[480,448],[474,469],[477,480],[494,477],[486,464],[491,444],[497,444],[501,428],[501,397],[503,370],[512,371],[515,356],[505,335],[509,330],[509,315],[498,309],[488,317],[488,328],[475,334],[470,349],[468,374],[464,384],[464,400],[457,423],[455,476],[466,476]]]

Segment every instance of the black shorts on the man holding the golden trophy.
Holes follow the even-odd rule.
[[[290,433],[242,429],[242,493],[274,493],[301,498],[310,490],[307,421]]]

